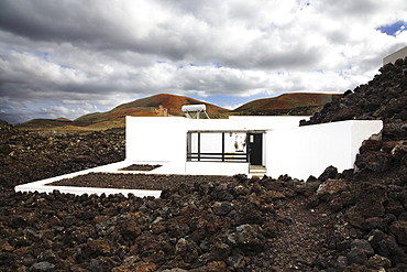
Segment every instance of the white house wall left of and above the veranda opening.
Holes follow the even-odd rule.
[[[306,117],[127,117],[127,160],[138,162],[186,161],[187,131],[244,131],[298,127]],[[204,152],[204,151],[202,151]],[[208,151],[209,152],[209,151]]]

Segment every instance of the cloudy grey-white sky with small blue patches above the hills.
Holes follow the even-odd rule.
[[[1,0],[0,119],[344,93],[406,44],[406,0]]]

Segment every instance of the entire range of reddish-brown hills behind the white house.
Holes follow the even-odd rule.
[[[319,111],[323,105],[336,100],[341,95],[326,94],[285,94],[274,98],[265,98],[248,102],[235,110],[220,108],[212,104],[194,98],[161,94],[128,104],[122,104],[107,112],[95,112],[81,116],[75,120],[33,119],[15,124],[26,130],[55,130],[55,131],[90,131],[112,128],[124,128],[125,116],[158,117],[183,116],[184,105],[205,104],[211,118],[227,118],[229,115],[297,115],[311,116]]]

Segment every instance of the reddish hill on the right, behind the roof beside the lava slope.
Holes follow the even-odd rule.
[[[248,102],[233,110],[240,115],[314,115],[342,95],[295,93]]]

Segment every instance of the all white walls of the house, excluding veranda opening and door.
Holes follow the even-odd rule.
[[[319,176],[329,165],[336,166],[340,172],[353,168],[362,141],[378,133],[383,126],[382,121],[354,120],[297,127],[301,119],[304,117],[242,117],[232,120],[128,117],[127,160],[170,162],[170,171],[177,173],[185,171],[186,174],[221,174],[224,170],[224,174],[233,171],[238,174],[242,173],[239,171],[246,171],[248,165],[224,162],[187,163],[187,132],[264,130],[272,127],[275,129],[267,130],[263,137],[263,163],[267,175],[278,177],[288,174],[307,179],[309,175]]]

